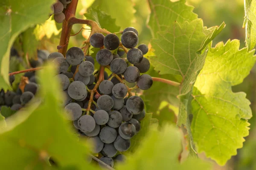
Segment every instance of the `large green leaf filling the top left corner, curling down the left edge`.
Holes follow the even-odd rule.
[[[32,24],[42,23],[51,13],[55,0],[0,1],[0,88],[11,89],[9,83],[9,54],[16,37]]]

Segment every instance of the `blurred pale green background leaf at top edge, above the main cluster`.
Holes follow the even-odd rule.
[[[131,21],[134,19],[133,3],[130,0],[111,0],[111,3],[107,0],[96,0],[92,7],[99,7],[101,11],[115,18],[116,25],[121,26],[122,29],[131,26]],[[115,32],[117,31],[119,30]]]

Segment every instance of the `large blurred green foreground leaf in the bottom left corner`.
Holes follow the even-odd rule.
[[[52,169],[48,165],[49,156],[59,169],[67,166],[96,169],[86,160],[89,147],[77,141],[64,120],[64,108],[58,103],[63,96],[54,79],[54,70],[50,66],[40,71],[40,99],[35,98],[26,108],[6,119],[7,126],[0,131],[2,169]]]

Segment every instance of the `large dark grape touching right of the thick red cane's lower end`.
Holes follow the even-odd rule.
[[[66,59],[71,65],[79,65],[84,60],[84,52],[79,47],[71,47],[67,51]]]

